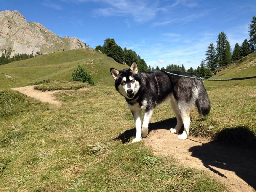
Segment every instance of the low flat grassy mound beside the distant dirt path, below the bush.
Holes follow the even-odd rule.
[[[76,90],[88,86],[88,84],[77,81],[51,81],[36,85],[34,88],[40,91],[54,91],[54,90]]]

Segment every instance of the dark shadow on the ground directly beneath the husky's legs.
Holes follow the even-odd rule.
[[[177,120],[175,117],[170,118],[170,119],[165,119],[163,121],[155,122],[155,123],[149,123],[148,124],[148,133],[151,132],[152,130],[157,130],[157,129],[170,129],[174,128],[177,124]],[[181,127],[180,132],[183,130],[183,125]],[[125,132],[121,133],[118,135],[114,140],[121,140],[123,143],[129,143],[131,138],[136,135],[136,129],[128,129]]]

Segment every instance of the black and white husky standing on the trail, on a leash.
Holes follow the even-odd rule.
[[[167,71],[167,70],[166,70]],[[178,139],[188,137],[190,127],[190,111],[196,105],[199,114],[205,118],[210,112],[210,101],[201,80],[175,76],[164,70],[138,73],[137,63],[133,62],[128,69],[110,72],[115,80],[116,90],[125,97],[127,106],[132,111],[136,127],[136,136],[132,142],[138,142],[148,135],[148,123],[153,109],[165,100],[169,100],[177,118],[177,125],[171,133],[178,133],[182,124],[184,131]],[[178,75],[198,77],[193,73],[170,70]],[[141,110],[145,116],[141,128]]]

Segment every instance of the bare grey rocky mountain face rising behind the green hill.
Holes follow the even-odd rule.
[[[27,22],[18,11],[0,12],[0,54],[11,51],[18,53],[52,53],[63,49],[88,48],[76,37],[59,37],[40,23]]]

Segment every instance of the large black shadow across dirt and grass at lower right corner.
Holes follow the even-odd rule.
[[[245,127],[227,128],[219,132],[214,141],[189,149],[204,166],[222,177],[224,170],[235,172],[238,177],[256,189],[256,140]],[[215,168],[223,169],[221,172]]]

